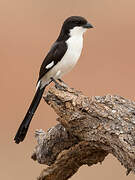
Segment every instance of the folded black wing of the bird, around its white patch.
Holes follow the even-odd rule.
[[[38,81],[50,70],[55,66],[64,56],[65,52],[67,50],[67,44],[62,41],[62,42],[55,42],[45,57],[41,67],[40,67],[40,72],[39,72],[39,78]],[[54,61],[54,64],[50,68],[46,68],[48,64],[50,64],[52,61]]]

